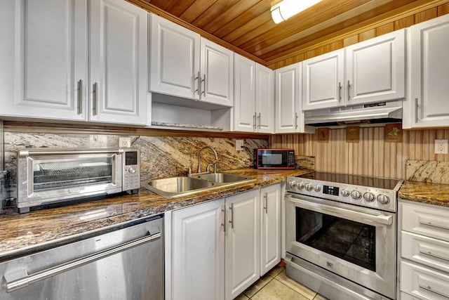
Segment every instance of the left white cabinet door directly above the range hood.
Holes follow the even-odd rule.
[[[302,110],[344,105],[344,49],[302,62]]]

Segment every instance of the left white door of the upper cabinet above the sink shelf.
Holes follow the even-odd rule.
[[[150,15],[150,91],[199,100],[200,35]]]

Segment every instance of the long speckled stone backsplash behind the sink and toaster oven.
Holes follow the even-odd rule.
[[[123,136],[120,136],[123,137]],[[243,151],[235,148],[235,138],[192,138],[166,136],[130,136],[131,146],[140,148],[142,180],[187,174],[198,168],[199,150],[212,146],[218,155],[217,170],[241,169],[253,166],[253,149],[267,148],[264,139],[244,139]],[[17,197],[16,152],[23,148],[117,148],[119,136],[111,134],[75,133],[4,133],[6,193]],[[213,152],[206,149],[201,155],[201,169],[213,163]]]

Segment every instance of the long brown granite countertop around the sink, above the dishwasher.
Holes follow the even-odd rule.
[[[170,199],[140,188],[139,193],[134,195],[119,194],[107,199],[41,209],[27,214],[7,211],[6,214],[0,215],[0,259],[38,245],[61,242],[92,230],[101,230],[171,209],[272,185],[285,181],[287,176],[304,174],[308,171],[311,170],[237,169],[225,173],[254,177],[256,181]]]

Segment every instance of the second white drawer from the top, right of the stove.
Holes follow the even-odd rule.
[[[401,257],[449,273],[449,242],[401,231]]]

